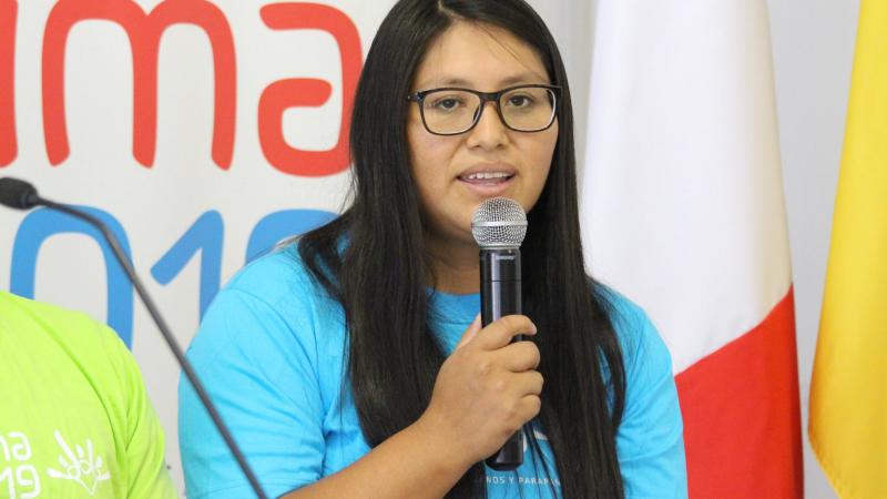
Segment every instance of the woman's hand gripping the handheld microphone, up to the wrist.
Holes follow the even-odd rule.
[[[478,316],[438,373],[417,427],[460,466],[488,458],[539,414],[539,348],[531,342],[512,344],[520,334],[536,334],[526,316],[502,317],[483,329]]]

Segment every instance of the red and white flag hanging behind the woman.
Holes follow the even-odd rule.
[[[766,2],[600,2],[589,106],[587,262],[672,353],[690,496],[803,497]]]

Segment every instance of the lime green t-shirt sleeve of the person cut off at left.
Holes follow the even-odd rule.
[[[116,334],[105,327],[105,349],[116,361],[115,369],[125,397],[125,470],[128,499],[174,499],[179,495],[166,469],[165,442],[160,418],[151,405],[144,380],[132,354]]]

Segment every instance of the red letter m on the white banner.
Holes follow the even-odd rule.
[[[133,0],[59,0],[50,12],[43,38],[43,130],[53,165],[68,159],[70,146],[64,114],[64,53],[71,28],[83,20],[118,23],[130,39],[133,59],[133,155],[154,164],[157,139],[157,59],[160,39],[172,24],[194,24],[210,39],[215,69],[213,161],[223,170],[234,153],[236,64],[227,19],[206,0],[164,0],[145,14]]]

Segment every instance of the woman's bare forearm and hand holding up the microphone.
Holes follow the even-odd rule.
[[[303,498],[440,498],[475,464],[496,452],[540,409],[539,350],[523,316],[480,330],[479,318],[443,363],[428,410],[341,471],[284,496]]]

